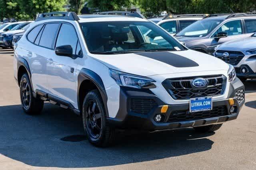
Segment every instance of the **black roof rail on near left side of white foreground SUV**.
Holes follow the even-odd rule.
[[[48,13],[39,14],[38,17],[36,18],[36,21],[52,20],[52,19],[72,20],[72,21],[79,20],[75,12],[48,12]]]

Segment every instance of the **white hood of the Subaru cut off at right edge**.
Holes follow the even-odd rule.
[[[223,43],[218,49],[231,50],[231,51],[247,51],[256,49],[256,37],[246,37],[243,39],[236,39]]]

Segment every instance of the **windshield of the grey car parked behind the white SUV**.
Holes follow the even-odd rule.
[[[176,34],[176,36],[202,37],[210,33],[222,20],[199,20]]]

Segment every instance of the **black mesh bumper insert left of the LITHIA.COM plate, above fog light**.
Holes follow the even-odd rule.
[[[131,99],[131,111],[139,114],[148,114],[157,103],[153,99]]]

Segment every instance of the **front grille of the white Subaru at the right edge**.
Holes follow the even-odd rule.
[[[223,57],[223,53],[229,53],[228,57]],[[218,59],[221,59],[225,61],[228,64],[231,65],[237,65],[244,57],[244,53],[240,51],[223,51],[223,50],[218,50],[215,53],[215,57]]]

